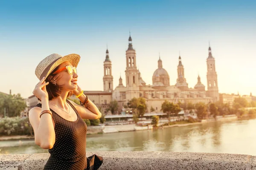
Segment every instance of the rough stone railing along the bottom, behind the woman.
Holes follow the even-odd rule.
[[[178,152],[96,152],[100,170],[256,170],[256,156]],[[0,155],[0,170],[42,170],[49,153]]]

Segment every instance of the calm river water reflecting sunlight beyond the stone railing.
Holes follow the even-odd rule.
[[[87,151],[238,153],[256,156],[256,119],[87,135]],[[0,141],[0,154],[47,153],[34,140]]]

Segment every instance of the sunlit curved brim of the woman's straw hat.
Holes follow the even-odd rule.
[[[70,64],[73,67],[77,67],[79,61],[80,61],[80,56],[78,54],[69,54],[66,55],[64,57],[61,57],[60,59],[58,59],[56,62],[54,62],[54,64],[51,66],[51,68],[49,69],[49,71],[47,72],[47,74],[45,75],[41,75],[40,79],[42,79],[43,77],[45,77],[45,79],[49,76],[49,74],[52,73],[52,71],[58,67],[58,65],[60,65],[63,62],[69,61]]]

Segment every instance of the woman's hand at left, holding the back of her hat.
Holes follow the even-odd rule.
[[[49,82],[45,82],[44,81],[44,77],[43,79],[40,80],[40,82],[38,82],[38,84],[35,86],[35,89],[33,91],[33,94],[42,101],[42,99],[49,99],[48,93],[46,91],[46,85],[48,85]]]

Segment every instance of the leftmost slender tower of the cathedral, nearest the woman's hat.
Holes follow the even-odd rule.
[[[106,59],[104,61],[104,77],[103,77],[104,91],[113,91],[113,76],[112,76],[112,64],[109,59],[108,49],[106,51]]]

